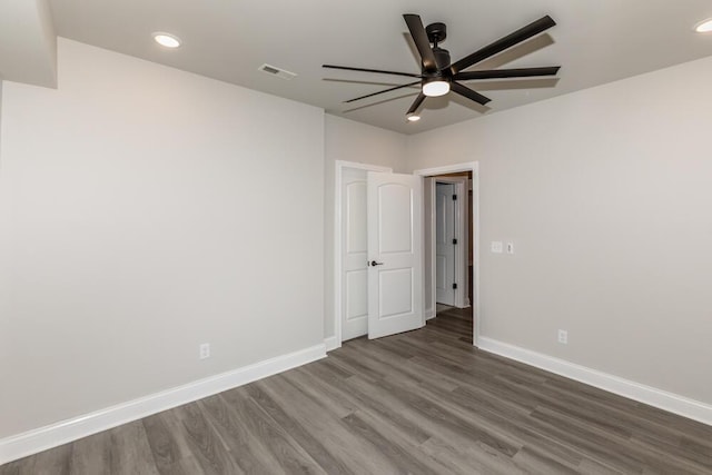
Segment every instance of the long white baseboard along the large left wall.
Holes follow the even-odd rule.
[[[325,356],[326,348],[324,344],[316,345],[0,439],[0,465],[306,365]]]

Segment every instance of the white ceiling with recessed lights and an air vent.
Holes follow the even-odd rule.
[[[50,0],[50,7],[61,37],[404,133],[712,55],[712,34],[693,31],[712,17],[709,0]],[[416,123],[405,120],[405,111],[417,88],[343,103],[408,78],[328,70],[323,63],[419,72],[403,13],[417,13],[425,24],[445,22],[442,46],[453,61],[550,14],[556,27],[473,69],[561,65],[558,80],[472,81],[492,99],[487,107],[453,93],[428,98]],[[175,33],[184,44],[166,50],[154,43],[154,31]],[[257,70],[265,62],[298,77],[267,76]]]

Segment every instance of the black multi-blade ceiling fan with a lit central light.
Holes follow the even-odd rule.
[[[421,93],[406,112],[408,120],[418,120],[421,117],[416,113],[426,97],[444,96],[451,90],[467,99],[474,100],[479,105],[490,102],[490,98],[463,86],[459,81],[469,81],[475,79],[502,79],[502,78],[526,78],[536,76],[556,76],[560,66],[551,66],[544,68],[517,68],[517,69],[491,69],[485,71],[463,71],[485,59],[493,57],[515,44],[521,43],[556,24],[550,17],[545,16],[538,20],[523,27],[515,32],[473,52],[472,55],[451,62],[449,52],[439,47],[439,43],[447,37],[445,23],[432,23],[427,28],[423,27],[423,21],[417,14],[404,14],[415,47],[421,55],[421,73],[386,71],[380,69],[354,68],[348,66],[323,65],[324,68],[345,69],[348,71],[377,72],[380,75],[405,76],[408,78],[418,78],[417,81],[406,85],[396,86],[378,92],[360,96],[349,99],[345,102],[354,102],[356,100],[366,99],[373,96],[390,92],[396,89],[407,88],[421,85]],[[431,47],[433,43],[433,47]]]

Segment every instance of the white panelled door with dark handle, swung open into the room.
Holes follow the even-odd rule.
[[[422,207],[421,177],[368,172],[368,338],[424,325]]]

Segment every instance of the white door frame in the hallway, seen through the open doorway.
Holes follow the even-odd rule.
[[[433,188],[437,188],[437,184],[446,184],[446,185],[454,185],[455,186],[455,195],[459,196],[461,199],[458,199],[457,201],[455,201],[455,236],[457,238],[457,243],[462,243],[459,246],[457,246],[455,248],[455,281],[459,283],[459,285],[457,286],[457,288],[455,289],[455,303],[454,306],[458,307],[458,308],[466,308],[469,305],[469,301],[467,299],[467,284],[468,284],[468,278],[467,278],[467,266],[465,265],[467,255],[465,254],[465,248],[466,248],[466,243],[467,243],[467,237],[469,236],[469,230],[467,229],[467,212],[469,212],[468,206],[467,206],[467,196],[468,196],[468,188],[467,188],[467,179],[466,177],[432,177],[433,181],[431,182],[431,186]],[[433,211],[431,215],[432,216],[426,216],[425,220],[427,221],[427,225],[429,226],[431,232],[435,232],[435,218],[436,218],[436,209],[435,209],[435,190],[433,190],[433,192],[431,194],[431,210]],[[433,235],[435,236],[435,235]],[[433,245],[434,245],[434,240],[433,240]],[[433,258],[435,258],[435,255],[433,255]],[[436,281],[436,276],[435,276],[435,267],[433,265],[431,265],[431,271],[432,271],[432,281],[435,283]],[[435,317],[435,308],[437,306],[436,303],[436,298],[435,298],[435,285],[433,285],[433,315],[426,317],[426,318],[433,318]]]

